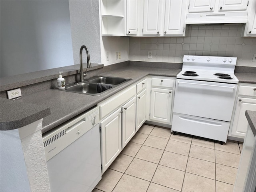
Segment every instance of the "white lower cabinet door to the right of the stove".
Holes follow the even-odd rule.
[[[244,138],[248,125],[245,116],[246,110],[256,111],[256,99],[238,97],[231,131],[232,136]]]

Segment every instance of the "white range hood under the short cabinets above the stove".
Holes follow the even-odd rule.
[[[185,24],[245,24],[248,12],[191,13]]]

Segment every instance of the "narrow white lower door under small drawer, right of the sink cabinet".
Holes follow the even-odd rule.
[[[136,132],[146,121],[146,89],[136,96]]]

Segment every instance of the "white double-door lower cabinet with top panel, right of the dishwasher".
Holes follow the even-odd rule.
[[[100,108],[100,138],[102,174],[116,159],[135,134],[136,85],[98,104]]]

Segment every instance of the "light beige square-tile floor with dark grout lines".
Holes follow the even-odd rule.
[[[241,150],[144,124],[93,192],[231,192]]]

